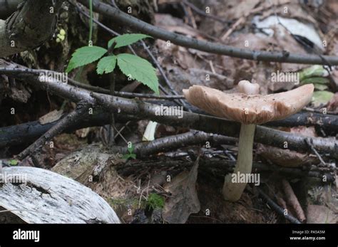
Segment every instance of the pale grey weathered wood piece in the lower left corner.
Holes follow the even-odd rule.
[[[55,172],[4,167],[2,182],[6,183],[0,184],[0,223],[11,223],[1,221],[13,218],[4,214],[15,215],[28,224],[120,223],[101,196]],[[7,211],[1,212],[1,208]]]

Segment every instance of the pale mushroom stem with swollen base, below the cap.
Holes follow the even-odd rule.
[[[223,196],[227,201],[238,201],[247,185],[242,182],[240,176],[251,173],[252,147],[256,125],[242,124],[240,127],[240,140],[238,143],[237,163],[233,174],[225,176]]]

